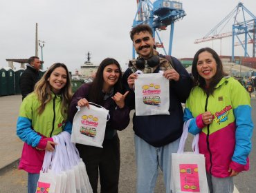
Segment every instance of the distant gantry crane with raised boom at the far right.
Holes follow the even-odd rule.
[[[241,13],[241,21],[239,21],[239,13]],[[227,23],[234,19],[232,23],[232,32],[222,32],[223,28]],[[250,19],[248,19],[250,18]],[[244,34],[244,41],[241,41],[239,34]],[[251,35],[253,34],[253,35]],[[247,52],[247,44],[253,43],[253,57],[255,57],[256,52],[256,17],[250,12],[243,3],[239,2],[227,17],[225,17],[220,23],[217,24],[208,34],[206,34],[202,39],[196,39],[194,43],[201,43],[204,41],[213,41],[214,39],[222,39],[225,37],[232,37],[232,61],[234,59],[235,46],[241,45],[244,49],[244,57],[250,57]],[[237,37],[238,42],[235,43],[235,37]]]

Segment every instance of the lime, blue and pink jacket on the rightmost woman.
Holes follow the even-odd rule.
[[[213,115],[210,125],[204,125],[202,113]],[[253,121],[250,97],[243,86],[232,77],[223,77],[213,94],[196,86],[186,101],[184,121],[190,121],[189,132],[199,133],[199,152],[205,155],[206,171],[212,176],[230,176],[249,169]]]

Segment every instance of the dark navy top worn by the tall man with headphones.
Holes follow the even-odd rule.
[[[135,134],[154,147],[172,143],[172,141],[179,139],[183,132],[183,108],[181,103],[185,103],[190,94],[192,79],[180,61],[174,57],[172,57],[172,66],[180,74],[180,79],[179,81],[170,81],[170,115],[136,116],[136,112],[134,113]],[[158,73],[158,71],[159,68],[156,68],[154,73]],[[131,73],[128,68],[122,77],[127,90],[129,90],[127,79]],[[134,109],[134,90],[131,90],[127,95],[126,103],[130,109]]]

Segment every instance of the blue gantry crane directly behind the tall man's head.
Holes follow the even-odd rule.
[[[153,37],[155,38],[155,35],[158,37],[159,42],[156,42],[156,47],[163,48],[163,51],[165,54],[167,54],[157,30],[166,30],[167,26],[171,26],[168,52],[168,54],[171,55],[174,22],[179,21],[179,19],[183,19],[185,16],[182,3],[180,1],[170,0],[156,0],[154,3],[149,0],[136,1],[137,11],[134,18],[133,27],[139,24],[148,24],[153,30]],[[135,58],[134,48],[132,54],[133,58]]]

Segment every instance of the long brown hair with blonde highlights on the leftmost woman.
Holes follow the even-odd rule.
[[[44,73],[44,76],[36,83],[35,85],[35,94],[37,94],[37,98],[41,102],[41,105],[38,108],[38,113],[42,114],[46,104],[52,99],[52,91],[51,85],[48,81],[48,78],[53,73],[53,70],[56,68],[62,67],[66,70],[66,85],[60,91],[62,95],[62,116],[66,117],[66,110],[68,108],[68,104],[71,101],[72,92],[71,92],[71,80],[68,72],[68,68],[64,63],[54,63],[50,68]]]

